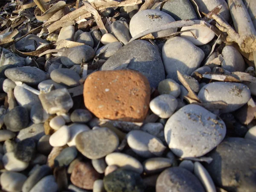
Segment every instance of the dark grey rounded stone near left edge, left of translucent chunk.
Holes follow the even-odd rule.
[[[29,124],[29,114],[25,108],[17,106],[6,113],[3,122],[9,131],[17,132]]]

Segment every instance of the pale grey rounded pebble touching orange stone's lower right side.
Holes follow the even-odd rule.
[[[149,103],[151,111],[160,118],[169,118],[177,108],[178,102],[174,96],[162,94],[155,97]]]

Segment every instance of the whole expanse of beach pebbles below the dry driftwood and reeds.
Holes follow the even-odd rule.
[[[195,3],[232,23],[225,0]],[[140,7],[101,12],[104,35],[90,17],[14,44],[73,43],[58,53],[0,47],[1,192],[256,192],[253,59],[200,24],[131,41],[201,19],[189,0]]]

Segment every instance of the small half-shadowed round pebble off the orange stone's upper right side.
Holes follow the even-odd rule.
[[[160,95],[169,94],[177,98],[180,95],[180,85],[172,79],[164,79],[158,84],[157,90]]]

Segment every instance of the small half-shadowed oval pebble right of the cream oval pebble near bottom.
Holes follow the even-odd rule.
[[[144,171],[146,174],[159,173],[164,169],[172,166],[173,161],[169,158],[154,157],[143,162]]]

